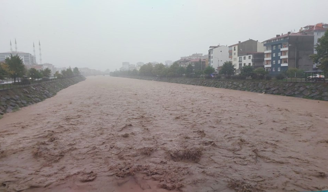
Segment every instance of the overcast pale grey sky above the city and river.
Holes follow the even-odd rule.
[[[2,0],[0,52],[33,54],[56,67],[111,71],[123,61],[164,62],[211,45],[263,41],[328,23],[327,0]]]

